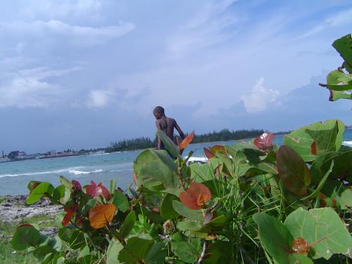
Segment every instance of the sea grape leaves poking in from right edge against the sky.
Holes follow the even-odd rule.
[[[340,56],[344,59],[341,67],[332,70],[327,75],[327,84],[320,84],[327,87],[330,92],[329,101],[339,99],[352,99],[352,36],[347,34],[337,39],[332,44]]]

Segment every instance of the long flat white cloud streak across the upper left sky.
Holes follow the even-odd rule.
[[[120,37],[134,30],[134,27],[133,23],[123,21],[120,21],[118,25],[108,27],[69,25],[59,20],[49,20],[48,22],[37,20],[32,23],[14,21],[0,23],[0,33],[8,36],[17,35],[19,39],[34,37],[40,42],[52,37],[61,37],[63,44],[69,42],[80,46],[90,46]]]

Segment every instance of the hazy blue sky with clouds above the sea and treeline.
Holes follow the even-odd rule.
[[[0,0],[0,150],[90,149],[184,132],[338,118],[318,85],[342,63],[351,0]]]

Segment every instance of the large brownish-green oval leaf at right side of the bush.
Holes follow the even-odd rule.
[[[310,184],[310,172],[306,163],[296,151],[282,145],[276,154],[279,177],[292,194],[303,196]]]

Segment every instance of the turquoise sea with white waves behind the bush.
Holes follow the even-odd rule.
[[[346,130],[345,141],[352,141],[352,130]],[[194,157],[204,157],[203,147],[231,142],[212,142],[191,144],[184,153],[193,150]],[[282,136],[276,136],[275,144],[282,143]],[[140,151],[126,151],[100,155],[72,156],[42,160],[16,161],[0,163],[0,196],[6,194],[27,194],[27,182],[30,180],[48,181],[58,184],[58,176],[63,175],[70,180],[78,180],[88,184],[90,180],[104,182],[108,186],[110,180],[126,188],[132,181],[132,161]]]

